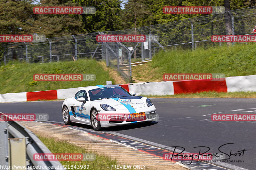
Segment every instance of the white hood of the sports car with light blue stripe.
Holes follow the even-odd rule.
[[[141,98],[141,96],[116,97],[103,99],[102,103],[106,103],[113,108],[120,110],[136,109],[145,106]]]

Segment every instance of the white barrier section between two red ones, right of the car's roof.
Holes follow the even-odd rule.
[[[145,84],[129,84],[129,92],[138,95],[174,95],[172,81],[150,82]]]

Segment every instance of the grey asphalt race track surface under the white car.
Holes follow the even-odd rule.
[[[226,162],[246,169],[255,169],[256,163],[256,122],[213,122],[213,113],[256,113],[255,98],[163,98],[151,99],[156,107],[159,120],[147,124],[133,124],[105,128],[105,132],[116,132],[170,147],[180,146],[186,152],[220,153],[228,155],[244,151],[244,155],[231,155]],[[61,105],[63,101],[0,103],[3,113],[47,113],[49,121],[63,122]],[[91,126],[77,126],[92,129]],[[233,144],[228,144],[233,143]],[[197,146],[205,146],[194,148]],[[228,158],[227,155],[225,155]],[[232,167],[230,167],[232,169]]]

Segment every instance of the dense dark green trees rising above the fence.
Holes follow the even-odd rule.
[[[156,25],[205,14],[164,14],[164,6],[224,6],[223,0],[0,0],[0,34],[45,34],[49,37],[114,31]],[[230,9],[254,6],[230,0]],[[95,6],[95,14],[34,14],[34,6]]]

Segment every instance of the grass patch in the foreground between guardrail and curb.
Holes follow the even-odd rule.
[[[39,136],[39,139],[44,143],[44,145],[52,152],[52,153],[92,153],[89,152],[86,148],[81,148],[75,145],[72,145],[66,141],[55,141],[54,138],[46,138]],[[77,169],[94,169],[94,170],[101,170],[101,169],[110,169],[110,165],[117,165],[116,159],[111,159],[107,156],[102,156],[96,154],[96,159],[93,161],[60,161],[62,165],[66,165],[66,167],[70,170],[77,170]],[[89,165],[83,167],[84,165]],[[76,166],[76,168],[75,168]],[[73,168],[71,168],[73,167]],[[81,168],[83,167],[83,168]]]

